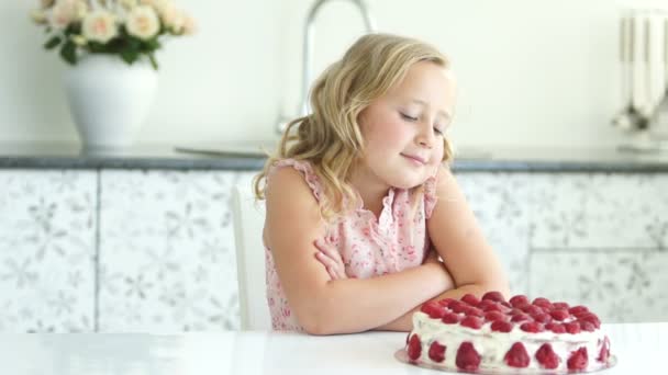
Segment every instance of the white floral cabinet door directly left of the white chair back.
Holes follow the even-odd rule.
[[[230,197],[252,174],[101,171],[101,331],[238,328]]]

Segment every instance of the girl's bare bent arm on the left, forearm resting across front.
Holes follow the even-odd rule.
[[[292,314],[309,333],[369,330],[452,287],[438,263],[366,280],[331,281],[315,258],[313,242],[323,237],[324,221],[303,177],[291,168],[275,171],[266,197],[265,241]]]

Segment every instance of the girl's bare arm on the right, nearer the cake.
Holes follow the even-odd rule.
[[[438,169],[436,195],[438,200],[427,219],[427,232],[456,285],[439,297],[457,298],[467,293],[480,296],[488,291],[499,291],[508,297],[505,272],[455,178],[444,167]]]

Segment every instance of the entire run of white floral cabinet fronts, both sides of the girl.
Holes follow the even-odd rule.
[[[237,329],[230,192],[254,173],[0,170],[0,331]],[[668,320],[668,174],[458,179],[513,293]]]

